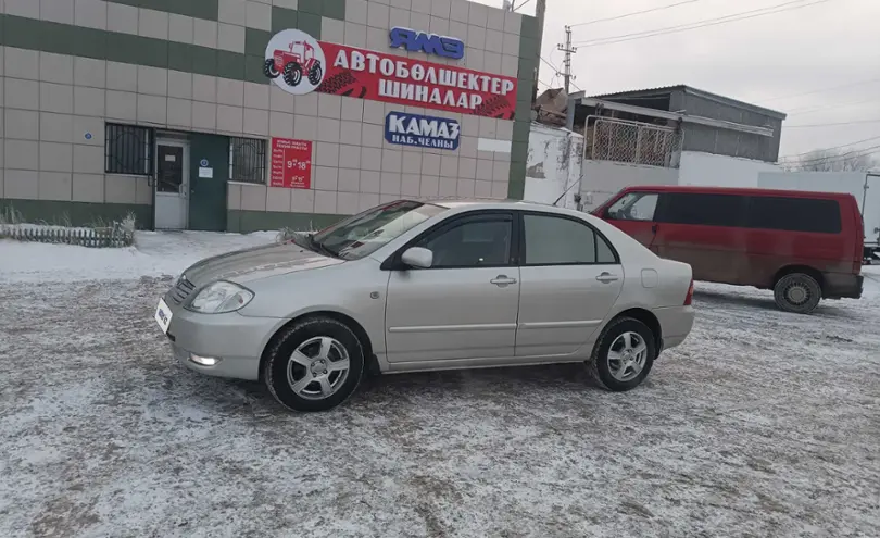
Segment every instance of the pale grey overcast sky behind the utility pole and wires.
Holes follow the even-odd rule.
[[[499,8],[502,4],[502,0],[478,1]],[[517,5],[521,1],[517,0]],[[533,15],[535,1],[529,0],[518,11]],[[556,50],[556,43],[565,39],[566,24],[574,26],[681,1],[546,0],[542,55],[561,66],[563,53]],[[816,1],[692,0],[652,13],[575,26],[573,41],[655,30],[788,3],[777,8],[784,10]],[[669,35],[580,46],[571,62],[571,71],[577,75],[574,84],[587,95],[687,84],[788,113],[782,124],[780,157],[842,146],[880,136],[878,24],[880,0],[826,0],[802,9]],[[546,64],[542,63],[539,78],[562,87],[562,79],[554,78],[553,68]],[[789,97],[868,79],[877,80]],[[543,90],[545,86],[539,88]],[[821,107],[830,110],[817,110]],[[791,128],[864,120],[878,122]],[[873,140],[855,148],[879,143],[880,140]]]

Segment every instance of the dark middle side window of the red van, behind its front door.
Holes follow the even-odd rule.
[[[663,193],[657,222],[704,226],[744,226],[747,200],[739,195]]]

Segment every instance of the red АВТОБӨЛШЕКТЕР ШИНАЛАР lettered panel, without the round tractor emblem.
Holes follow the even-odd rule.
[[[513,120],[516,78],[318,41],[326,72],[317,91]]]

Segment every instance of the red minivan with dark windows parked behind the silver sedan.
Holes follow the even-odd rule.
[[[627,187],[592,213],[693,277],[772,289],[808,313],[862,297],[864,234],[852,195],[718,187]]]

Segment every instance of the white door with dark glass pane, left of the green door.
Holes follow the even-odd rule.
[[[186,229],[189,224],[189,145],[156,141],[155,228]]]

